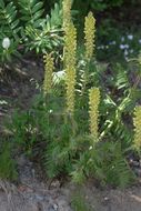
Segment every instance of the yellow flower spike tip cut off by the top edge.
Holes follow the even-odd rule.
[[[66,31],[66,28],[68,24],[71,22],[71,0],[63,0],[62,6],[63,6],[63,29]]]

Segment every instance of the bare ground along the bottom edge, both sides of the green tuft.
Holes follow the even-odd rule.
[[[8,192],[0,192],[0,211],[72,211],[71,194],[78,189],[67,183],[60,188],[58,180],[41,182],[31,162],[19,159],[20,183],[7,184]],[[3,182],[4,183],[4,182]],[[97,189],[92,182],[81,188],[92,211],[140,211],[141,185],[125,190]]]

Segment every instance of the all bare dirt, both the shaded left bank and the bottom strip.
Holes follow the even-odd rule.
[[[43,68],[41,62],[29,61],[13,64],[12,77],[0,80],[0,135],[4,132],[4,117],[10,117],[19,107],[27,109],[41,84]],[[19,183],[0,180],[0,211],[72,211],[71,194],[75,187],[59,181],[40,181],[33,163],[23,154],[18,158]],[[82,191],[92,211],[141,211],[141,183],[125,190],[98,189],[90,182]]]

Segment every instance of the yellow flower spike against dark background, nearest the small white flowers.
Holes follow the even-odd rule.
[[[93,56],[94,37],[95,37],[95,19],[92,12],[88,13],[84,21],[84,39],[85,39],[85,59],[90,60]]]

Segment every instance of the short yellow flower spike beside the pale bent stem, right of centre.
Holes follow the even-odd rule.
[[[89,91],[89,115],[90,115],[90,132],[94,141],[98,141],[98,118],[99,118],[100,90],[91,88]]]

